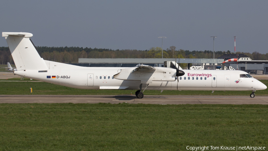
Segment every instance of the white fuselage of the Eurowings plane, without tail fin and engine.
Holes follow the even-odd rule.
[[[46,61],[49,69],[20,70],[14,74],[78,89],[139,90],[140,80],[113,78],[126,67],[80,67]],[[162,67],[156,67],[162,68]],[[185,75],[174,81],[149,81],[146,90],[264,90],[267,87],[255,78],[240,78],[240,70],[183,70]],[[131,74],[131,73],[130,73]],[[146,82],[142,88],[146,87]]]

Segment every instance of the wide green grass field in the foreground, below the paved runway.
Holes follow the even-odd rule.
[[[268,144],[268,105],[0,104],[0,150]]]

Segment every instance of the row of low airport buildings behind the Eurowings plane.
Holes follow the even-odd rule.
[[[237,62],[224,61],[238,58]],[[146,64],[153,67],[171,67],[171,61],[186,63],[190,70],[243,70],[249,74],[268,74],[268,61],[252,60],[244,54],[225,54],[217,59],[205,58],[79,58],[78,66],[84,67],[135,67]],[[191,66],[190,66],[191,65]]]

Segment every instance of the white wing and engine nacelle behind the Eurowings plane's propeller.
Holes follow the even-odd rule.
[[[176,69],[152,67],[139,64],[136,67],[124,68],[113,77],[120,80],[135,81],[175,81]]]

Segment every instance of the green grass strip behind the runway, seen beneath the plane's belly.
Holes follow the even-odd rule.
[[[4,82],[4,81],[30,81],[27,78],[12,78],[0,82],[1,95],[121,95],[135,94],[136,90],[82,90],[70,87],[64,87],[46,82]],[[260,80],[268,86],[268,80]],[[32,87],[33,93],[30,93],[29,88]],[[164,90],[145,90],[144,95],[250,95],[251,91],[175,91]],[[268,95],[268,89],[258,90],[256,95]]]

